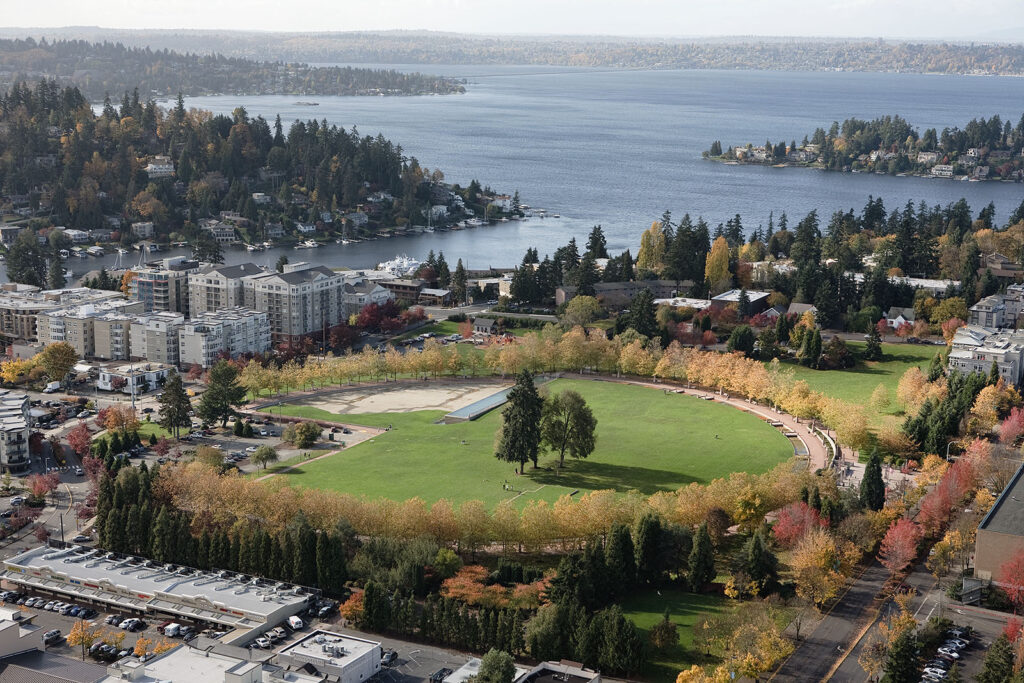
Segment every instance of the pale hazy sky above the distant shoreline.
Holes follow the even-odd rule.
[[[1024,0],[46,0],[8,27],[1024,39]]]

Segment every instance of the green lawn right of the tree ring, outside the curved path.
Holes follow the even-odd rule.
[[[863,342],[847,342],[850,350],[859,356],[864,350]],[[925,344],[883,344],[882,360],[857,365],[849,370],[811,370],[796,362],[786,362],[793,370],[794,379],[807,382],[814,391],[863,405],[867,410],[872,426],[881,426],[892,416],[897,416],[896,385],[907,370],[920,367],[925,373],[936,352],[946,353],[947,347]],[[884,385],[889,389],[892,407],[879,413],[870,405],[871,392]]]

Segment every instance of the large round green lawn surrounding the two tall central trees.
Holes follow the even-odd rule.
[[[512,463],[494,457],[500,411],[473,422],[440,425],[435,423],[442,411],[337,415],[287,404],[281,408],[286,415],[392,429],[282,476],[295,485],[368,498],[476,499],[493,506],[515,497],[524,505],[603,488],[673,490],[733,471],[763,472],[793,456],[781,433],[733,408],[611,382],[557,380],[547,385],[551,391],[568,388],[594,411],[597,447],[587,460],[567,461],[560,473],[552,455],[542,456],[541,468],[527,468],[524,476],[514,474]],[[506,482],[513,492],[503,488]]]

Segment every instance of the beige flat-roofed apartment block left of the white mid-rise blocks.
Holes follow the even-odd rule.
[[[117,353],[123,354],[126,350],[123,348],[126,340],[117,338],[117,328],[113,337],[112,330],[104,328],[101,345],[97,347],[96,321],[111,314],[125,319],[131,313],[140,312],[142,302],[129,301],[118,295],[105,301],[40,311],[36,316],[36,334],[43,344],[71,344],[83,358],[118,357]]]

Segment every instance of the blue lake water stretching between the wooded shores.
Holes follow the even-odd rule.
[[[389,66],[394,68],[394,66]],[[946,204],[964,197],[977,213],[989,202],[1001,222],[1024,199],[1024,185],[841,174],[808,169],[725,166],[700,159],[712,140],[798,142],[818,126],[849,117],[898,114],[921,130],[963,127],[998,114],[1014,124],[1024,103],[1024,79],[717,71],[599,71],[536,67],[398,67],[466,78],[467,93],[427,97],[196,97],[189,106],[229,114],[243,105],[272,121],[326,119],[402,145],[450,182],[471,178],[535,207],[559,213],[456,232],[359,245],[291,251],[291,260],[372,266],[396,253],[423,258],[443,251],[470,267],[509,266],[527,247],[550,253],[570,237],[604,227],[610,250],[630,248],[669,209],[702,215],[716,225],[738,213],[748,228],[769,211],[791,219],[817,209],[859,211],[868,195],[887,208]],[[309,99],[309,98],[305,98]],[[791,220],[791,224],[792,224]],[[231,250],[228,262],[276,260],[278,252]],[[109,259],[108,259],[109,260]],[[89,259],[91,264],[96,259]],[[80,268],[71,264],[76,271]],[[94,267],[94,266],[93,266]]]

